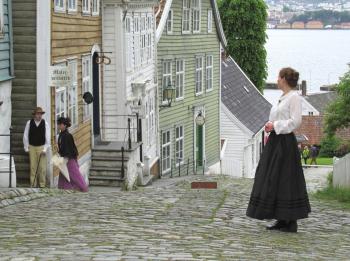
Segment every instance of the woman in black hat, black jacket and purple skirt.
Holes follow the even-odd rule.
[[[67,190],[79,190],[87,192],[88,186],[80,173],[78,165],[78,150],[74,143],[73,135],[68,132],[71,126],[69,118],[60,117],[57,120],[57,126],[60,130],[58,136],[58,153],[61,157],[67,158],[67,168],[70,182],[61,174],[58,178],[58,188]]]

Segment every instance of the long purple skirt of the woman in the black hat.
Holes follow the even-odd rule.
[[[79,165],[76,159],[70,159],[67,162],[70,182],[62,175],[58,177],[58,188],[66,190],[79,190],[87,192],[88,186],[85,183],[83,176],[80,173]]]

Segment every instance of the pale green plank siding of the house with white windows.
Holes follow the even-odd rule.
[[[172,80],[175,83],[175,60],[185,62],[184,99],[173,101],[171,108],[160,110],[160,130],[172,129],[171,158],[175,160],[175,126],[184,126],[184,159],[193,162],[194,152],[194,112],[193,107],[204,107],[205,111],[205,154],[206,165],[210,166],[220,160],[220,42],[212,18],[212,32],[208,33],[208,10],[212,10],[209,0],[201,2],[200,33],[182,33],[182,1],[173,1],[173,32],[167,34],[166,28],[157,47],[159,101],[162,101],[162,62],[172,60]],[[192,27],[192,23],[191,26]],[[195,58],[203,55],[203,94],[195,95]],[[206,92],[205,56],[213,56],[213,90]],[[193,170],[192,163],[189,167]]]

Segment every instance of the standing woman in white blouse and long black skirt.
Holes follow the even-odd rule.
[[[272,107],[265,131],[269,138],[255,173],[247,216],[255,219],[276,219],[268,230],[297,232],[297,220],[311,211],[306,191],[300,152],[293,131],[302,119],[301,97],[294,89],[299,73],[283,68],[278,87],[283,95]]]

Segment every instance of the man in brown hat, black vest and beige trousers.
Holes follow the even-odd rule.
[[[26,124],[23,134],[24,151],[29,152],[30,185],[46,186],[46,153],[50,147],[50,127],[42,118],[45,112],[35,108],[33,118]]]

